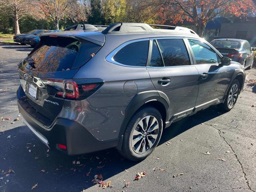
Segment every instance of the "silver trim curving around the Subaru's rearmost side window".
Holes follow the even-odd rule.
[[[108,61],[110,63],[120,65],[120,66],[146,68],[146,63],[145,63],[145,66],[132,66],[132,65],[125,65],[125,64],[122,64],[122,63],[118,63],[114,60],[114,56],[116,55],[116,53],[118,51],[120,51],[122,48],[124,48],[128,44],[131,44],[131,43],[134,43],[134,42],[140,42],[140,41],[148,41],[148,43],[149,43],[149,39],[150,38],[142,38],[142,39],[135,39],[135,40],[127,41],[127,42],[121,44],[120,46],[118,46],[117,48],[115,48],[112,52],[110,52],[110,54],[108,54],[108,56],[106,56],[105,59],[106,59],[106,61]]]

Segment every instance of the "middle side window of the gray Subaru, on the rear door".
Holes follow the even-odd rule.
[[[157,42],[164,66],[190,65],[188,51],[183,39],[159,39]]]

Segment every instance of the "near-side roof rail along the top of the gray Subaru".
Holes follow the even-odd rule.
[[[165,29],[154,29],[151,26],[158,26]],[[145,32],[156,32],[156,33],[185,33],[190,35],[195,35],[196,32],[189,28],[178,27],[178,26],[168,26],[168,25],[148,25],[146,23],[114,23],[108,26],[102,31],[103,34],[126,34],[126,33],[145,33]]]

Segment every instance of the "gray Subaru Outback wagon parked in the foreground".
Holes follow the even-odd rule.
[[[188,28],[91,28],[42,34],[18,65],[21,117],[52,149],[142,160],[164,128],[211,105],[231,110],[243,89],[243,66]]]

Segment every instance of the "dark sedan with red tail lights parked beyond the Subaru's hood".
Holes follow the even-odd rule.
[[[255,48],[242,39],[215,39],[211,44],[223,55],[239,62],[244,68],[251,69],[254,60]]]

